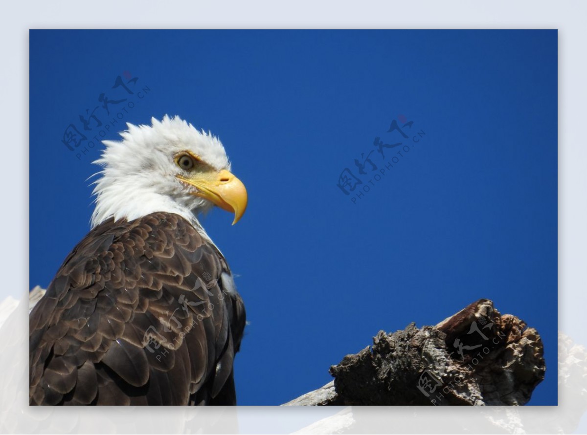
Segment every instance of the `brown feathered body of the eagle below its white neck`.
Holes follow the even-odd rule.
[[[95,227],[30,315],[31,405],[230,405],[245,325],[216,247],[183,217]]]

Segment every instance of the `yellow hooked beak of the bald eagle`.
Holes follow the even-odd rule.
[[[232,225],[241,219],[247,209],[247,189],[231,172],[222,169],[219,172],[200,172],[190,176],[177,175],[184,183],[194,186],[194,195],[201,196],[222,210],[234,213]]]

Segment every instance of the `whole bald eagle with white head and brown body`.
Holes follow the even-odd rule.
[[[30,314],[31,405],[235,405],[245,310],[197,219],[247,206],[221,142],[127,124],[96,161],[92,229]]]

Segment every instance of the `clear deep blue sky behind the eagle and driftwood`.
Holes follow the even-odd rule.
[[[203,219],[250,321],[241,405],[318,388],[380,329],[479,298],[538,329],[530,404],[556,405],[556,59],[556,30],[31,31],[31,287],[89,230],[93,137],[178,114],[249,192],[238,225]],[[102,93],[126,100],[107,115]],[[376,137],[402,145],[383,158]]]

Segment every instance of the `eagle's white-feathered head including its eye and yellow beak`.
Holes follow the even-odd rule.
[[[92,226],[106,219],[133,220],[154,212],[194,220],[216,205],[234,213],[234,225],[247,208],[247,190],[230,172],[217,137],[167,115],[151,125],[132,125],[122,141],[103,141],[102,171],[93,191]]]

